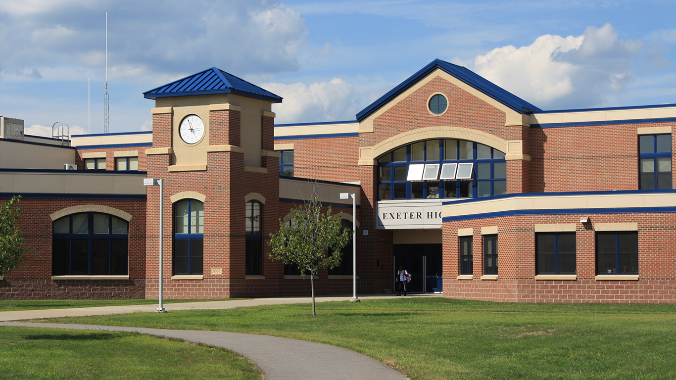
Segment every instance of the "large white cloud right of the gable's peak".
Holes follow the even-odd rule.
[[[610,24],[578,37],[546,34],[531,45],[499,47],[474,60],[477,74],[539,108],[607,105],[634,78],[641,41],[620,41]]]

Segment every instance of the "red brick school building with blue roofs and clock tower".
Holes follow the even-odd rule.
[[[160,202],[166,298],[308,294],[268,241],[318,193],[356,220],[358,293],[404,265],[409,291],[448,298],[676,302],[676,105],[540,110],[441,60],[349,121],[274,124],[283,99],[218,68],[143,96],[152,132],[0,118],[0,201],[22,195],[28,248],[0,299],[156,298]],[[343,252],[318,293],[351,293]]]

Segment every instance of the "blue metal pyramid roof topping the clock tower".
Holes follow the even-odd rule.
[[[274,95],[270,91],[252,85],[246,80],[237,78],[237,76],[228,74],[219,68],[210,68],[197,74],[186,76],[183,79],[175,80],[168,85],[146,91],[143,93],[143,97],[146,99],[156,99],[158,97],[209,94],[235,94],[272,101],[272,103],[282,102],[281,97]]]

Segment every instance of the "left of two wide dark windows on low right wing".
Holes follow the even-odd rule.
[[[575,275],[575,233],[538,233],[535,235],[535,272],[537,275]]]

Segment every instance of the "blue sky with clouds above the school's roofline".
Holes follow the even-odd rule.
[[[107,74],[105,50],[107,14]],[[217,67],[284,98],[276,124],[355,115],[439,58],[542,110],[676,103],[673,0],[3,0],[0,116],[26,134],[151,130],[143,92]]]

